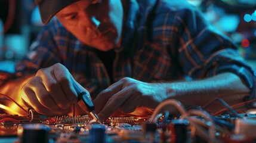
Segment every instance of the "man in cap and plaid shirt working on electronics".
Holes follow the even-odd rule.
[[[254,97],[253,71],[236,46],[186,1],[36,2],[45,24],[57,20],[17,64],[24,76],[9,95],[21,91],[39,113],[70,113],[78,100],[72,78],[90,92],[101,120],[145,116],[167,99],[203,105]]]

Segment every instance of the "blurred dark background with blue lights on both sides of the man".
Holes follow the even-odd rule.
[[[239,45],[246,62],[256,69],[255,0],[187,0],[217,29]],[[0,71],[14,71],[42,28],[33,0],[0,0]]]

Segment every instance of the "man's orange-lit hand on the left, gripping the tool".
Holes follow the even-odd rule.
[[[62,64],[40,69],[21,89],[21,97],[41,114],[67,114],[78,98],[69,71]]]

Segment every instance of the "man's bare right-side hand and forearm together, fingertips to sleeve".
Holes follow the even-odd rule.
[[[94,105],[98,117],[106,120],[116,114],[147,115],[149,110],[152,111],[167,99],[178,100],[183,105],[204,105],[215,98],[223,98],[231,105],[243,101],[248,94],[249,88],[233,73],[221,73],[202,80],[168,83],[145,83],[125,77],[100,92]],[[175,110],[172,112],[175,113]]]

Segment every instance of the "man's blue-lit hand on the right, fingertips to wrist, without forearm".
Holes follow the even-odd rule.
[[[157,83],[125,77],[97,95],[95,112],[101,120],[116,114],[147,116],[166,98],[161,90]]]

